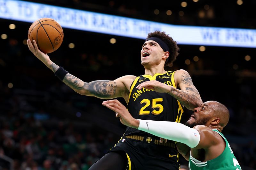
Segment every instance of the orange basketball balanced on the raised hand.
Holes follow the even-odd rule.
[[[60,24],[52,18],[37,19],[28,29],[28,38],[33,40],[40,51],[52,53],[57,50],[63,41],[63,30]]]

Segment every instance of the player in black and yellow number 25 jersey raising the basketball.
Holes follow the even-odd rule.
[[[165,32],[151,32],[141,49],[145,74],[125,75],[114,81],[84,82],[53,63],[36,42],[28,39],[28,48],[55,75],[77,93],[102,99],[123,97],[136,119],[180,122],[183,106],[193,110],[202,104],[201,97],[185,70],[165,71],[178,55],[176,42]],[[157,88],[146,89],[151,86]],[[182,106],[183,105],[183,106]],[[175,155],[175,156],[169,156]],[[124,135],[90,170],[101,169],[179,169],[178,151],[173,141],[160,143],[149,133],[127,127]],[[167,168],[168,167],[168,168]]]

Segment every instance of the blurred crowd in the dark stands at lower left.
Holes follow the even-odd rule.
[[[0,167],[4,170],[87,170],[114,142],[110,132],[92,132],[74,122],[49,124],[22,113],[0,118]]]

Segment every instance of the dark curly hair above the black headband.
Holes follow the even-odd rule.
[[[173,63],[173,61],[176,60],[176,57],[179,55],[179,47],[177,46],[177,42],[172,39],[172,37],[169,36],[169,34],[166,34],[165,32],[160,31],[154,31],[148,33],[148,38],[150,37],[157,37],[160,38],[162,41],[166,43],[166,45],[169,47],[169,60],[165,63],[165,66],[169,66]]]

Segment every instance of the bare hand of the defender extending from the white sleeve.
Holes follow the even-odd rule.
[[[118,100],[107,100],[102,102],[102,105],[116,112],[116,117],[120,118],[120,122],[122,124],[132,128],[139,127],[140,121],[134,119],[129,111],[126,109],[126,107]]]

